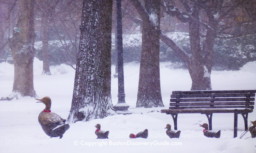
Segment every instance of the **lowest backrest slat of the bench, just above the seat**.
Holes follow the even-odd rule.
[[[196,103],[170,103],[170,106],[210,106],[210,105],[254,105],[254,102],[196,102]]]

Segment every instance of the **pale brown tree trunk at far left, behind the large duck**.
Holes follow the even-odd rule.
[[[36,97],[33,84],[33,62],[35,56],[34,29],[35,0],[21,0],[20,14],[13,29],[11,50],[14,61],[13,93],[9,98],[18,95]]]

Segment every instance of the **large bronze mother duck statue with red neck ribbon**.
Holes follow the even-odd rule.
[[[60,137],[61,139],[63,134],[69,129],[69,125],[65,124],[66,120],[51,112],[52,101],[49,97],[36,100],[39,100],[37,103],[45,104],[45,109],[38,116],[38,122],[44,130],[44,133],[51,138]]]

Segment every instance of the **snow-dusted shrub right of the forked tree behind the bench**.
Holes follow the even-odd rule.
[[[256,61],[256,34],[232,39],[216,39],[214,65],[238,70],[247,62]]]

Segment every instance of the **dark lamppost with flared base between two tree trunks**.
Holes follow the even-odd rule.
[[[118,114],[131,114],[130,107],[125,103],[124,94],[124,60],[123,60],[123,34],[122,34],[122,7],[121,0],[116,0],[117,20],[117,72],[118,72],[118,102],[114,106]]]

